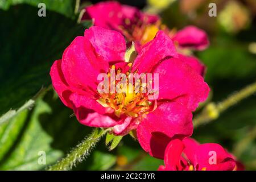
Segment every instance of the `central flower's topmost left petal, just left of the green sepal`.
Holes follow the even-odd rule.
[[[125,60],[125,38],[119,32],[94,26],[85,30],[84,36],[92,44],[97,55],[105,61]]]

